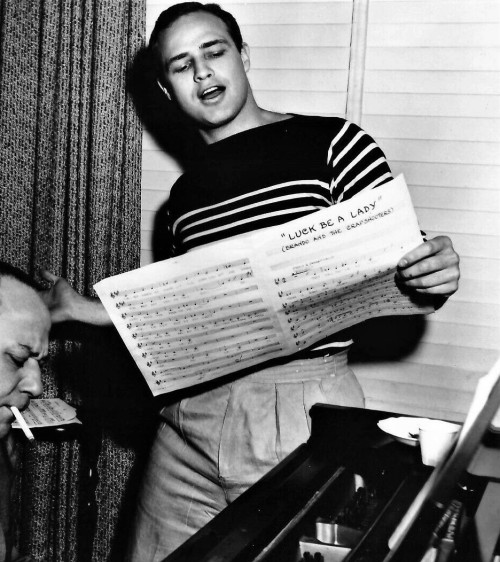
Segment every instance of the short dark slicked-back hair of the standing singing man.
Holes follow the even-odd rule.
[[[180,17],[187,16],[188,14],[195,12],[212,14],[222,20],[226,25],[229,35],[234,41],[236,48],[241,53],[241,49],[243,48],[243,38],[241,36],[240,26],[234,16],[223,10],[218,4],[202,4],[201,2],[181,2],[180,4],[174,4],[173,6],[170,6],[170,8],[164,10],[158,16],[154,29],[151,32],[149,48],[152,51],[155,51],[158,44],[158,35],[161,31],[170,27]]]

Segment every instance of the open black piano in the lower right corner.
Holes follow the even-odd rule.
[[[164,562],[497,562],[494,398],[435,469],[378,428],[398,414],[317,404],[307,443]]]

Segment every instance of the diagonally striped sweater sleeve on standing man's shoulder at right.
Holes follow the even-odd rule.
[[[332,200],[340,203],[392,179],[384,153],[363,129],[346,121],[328,150]]]

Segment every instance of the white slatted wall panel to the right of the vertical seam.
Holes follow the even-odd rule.
[[[373,406],[460,419],[500,353],[499,47],[498,2],[370,2],[362,124],[462,269],[399,369],[360,366]]]

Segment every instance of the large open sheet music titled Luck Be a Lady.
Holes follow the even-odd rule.
[[[394,282],[422,242],[402,176],[95,289],[154,395],[293,354],[373,316],[428,313]]]

